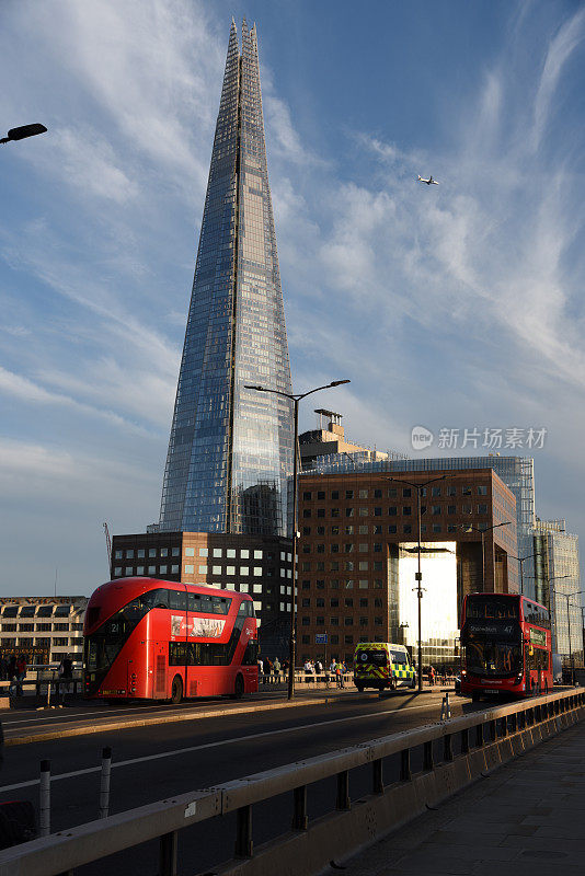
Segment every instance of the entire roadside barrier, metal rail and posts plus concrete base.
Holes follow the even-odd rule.
[[[214,874],[312,876],[331,858],[375,842],[584,715],[585,693],[567,691],[393,734],[8,849],[0,852],[0,876],[70,874],[153,838],[160,841],[160,876],[176,876],[181,829],[230,812],[237,817],[234,857],[214,867]],[[437,746],[441,757],[435,762]],[[415,749],[423,762],[416,774],[411,768]],[[400,781],[385,786],[385,758],[397,754]],[[371,766],[371,792],[352,802],[351,771],[365,765]],[[336,780],[331,811],[310,822],[308,787],[331,777]],[[292,830],[254,849],[254,805],[287,792]],[[190,869],[195,867],[190,862]]]

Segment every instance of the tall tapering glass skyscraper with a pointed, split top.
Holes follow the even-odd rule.
[[[232,22],[159,530],[287,535],[291,392],[255,26]]]

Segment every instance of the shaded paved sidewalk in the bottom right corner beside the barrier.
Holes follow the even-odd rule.
[[[581,876],[584,819],[577,725],[343,863],[352,876]]]

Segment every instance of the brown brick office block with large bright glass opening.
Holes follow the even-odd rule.
[[[498,475],[492,469],[444,474],[421,498],[423,661],[439,666],[457,661],[466,593],[507,592],[508,555],[517,554],[516,499]],[[300,475],[300,662],[332,656],[351,662],[358,642],[415,645],[416,489],[403,482],[433,476],[440,473]],[[326,648],[316,642],[323,635]]]

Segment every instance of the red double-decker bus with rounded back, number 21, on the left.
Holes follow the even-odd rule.
[[[118,578],[92,595],[83,635],[89,698],[179,703],[257,691],[257,624],[245,593]]]

